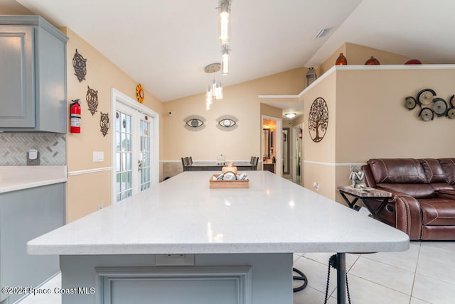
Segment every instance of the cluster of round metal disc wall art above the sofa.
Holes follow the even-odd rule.
[[[450,108],[447,102],[439,97],[432,89],[422,89],[417,93],[417,97],[408,96],[405,98],[406,109],[412,110],[420,107],[419,117],[423,121],[431,121],[434,116],[446,116],[449,119],[455,119],[455,95],[450,97]]]

